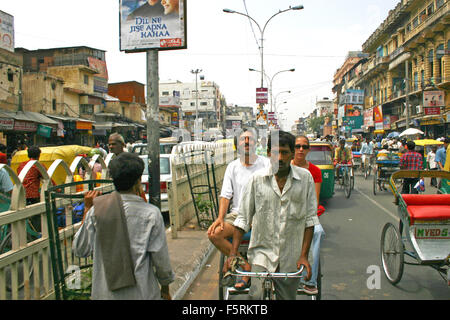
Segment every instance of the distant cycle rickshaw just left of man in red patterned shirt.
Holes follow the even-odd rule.
[[[373,168],[373,194],[387,190],[385,184],[389,183],[391,174],[400,170],[400,154],[395,149],[380,150],[375,155],[375,167]],[[401,183],[399,181],[398,183]]]

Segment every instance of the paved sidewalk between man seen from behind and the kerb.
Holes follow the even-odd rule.
[[[178,238],[172,239],[170,229],[166,231],[167,245],[175,281],[170,284],[173,300],[181,300],[200,273],[215,247],[201,230],[195,220],[187,223],[178,232]]]

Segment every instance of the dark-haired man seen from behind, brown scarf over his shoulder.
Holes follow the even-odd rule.
[[[93,254],[91,298],[170,300],[174,273],[162,215],[139,196],[144,162],[124,152],[109,169],[116,191],[85,195],[85,214],[72,244],[78,257]]]

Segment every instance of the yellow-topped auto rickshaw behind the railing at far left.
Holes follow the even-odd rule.
[[[68,167],[71,166],[74,159],[83,154],[88,154],[92,150],[91,147],[70,145],[57,147],[40,147],[41,155],[39,162],[48,170],[55,160],[62,159]],[[17,168],[22,162],[30,160],[28,158],[27,150],[16,152],[11,159],[11,169],[17,172]],[[67,172],[62,166],[55,169],[52,175],[52,180],[56,185],[64,184],[66,182]]]

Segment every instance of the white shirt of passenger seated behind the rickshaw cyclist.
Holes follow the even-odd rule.
[[[233,199],[231,202],[232,212],[238,211],[242,189],[250,181],[251,176],[256,171],[268,166],[270,166],[270,159],[262,156],[257,156],[255,163],[249,167],[244,166],[240,159],[230,162],[225,170],[220,197]]]

